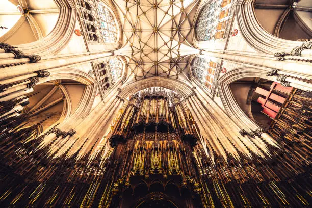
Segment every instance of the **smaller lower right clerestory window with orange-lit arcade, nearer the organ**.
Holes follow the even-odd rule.
[[[192,62],[193,75],[202,85],[212,90],[218,66],[217,62],[195,57]]]

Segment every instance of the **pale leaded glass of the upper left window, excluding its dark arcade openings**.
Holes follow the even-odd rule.
[[[105,43],[114,43],[117,38],[117,28],[111,12],[101,4],[97,8],[101,32]]]

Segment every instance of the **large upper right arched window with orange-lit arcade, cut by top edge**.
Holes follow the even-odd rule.
[[[217,40],[225,37],[232,13],[232,1],[213,0],[204,7],[196,26],[196,35],[199,41]]]

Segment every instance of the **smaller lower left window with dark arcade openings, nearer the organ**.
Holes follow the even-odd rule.
[[[99,84],[99,91],[105,94],[121,77],[123,63],[119,58],[113,58],[104,62],[93,63],[95,79]]]

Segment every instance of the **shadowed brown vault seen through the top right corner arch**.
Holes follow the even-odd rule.
[[[311,7],[312,3],[308,0],[254,2],[255,15],[261,26],[270,34],[286,40],[312,37],[312,26],[309,23]]]

